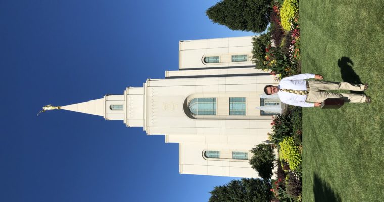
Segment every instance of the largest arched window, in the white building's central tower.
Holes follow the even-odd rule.
[[[189,110],[194,115],[216,115],[216,98],[192,99]]]

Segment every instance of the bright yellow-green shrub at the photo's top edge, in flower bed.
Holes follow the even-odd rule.
[[[295,18],[298,13],[298,1],[297,0],[285,0],[281,6],[280,17],[281,26],[289,31],[291,30],[291,21]]]

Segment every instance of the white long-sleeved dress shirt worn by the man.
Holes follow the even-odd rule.
[[[307,90],[307,81],[305,79],[315,78],[314,74],[298,74],[281,79],[279,89],[292,89],[292,90]],[[307,95],[298,95],[290,92],[277,92],[281,102],[288,105],[295,105],[300,107],[314,107],[314,103],[307,103]]]

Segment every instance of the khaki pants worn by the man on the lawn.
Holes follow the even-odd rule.
[[[364,103],[366,96],[364,94],[353,93],[333,93],[324,90],[352,90],[364,91],[364,84],[350,84],[347,82],[330,82],[311,80],[308,81],[309,91],[307,102],[322,102],[328,98],[342,98],[345,102]]]

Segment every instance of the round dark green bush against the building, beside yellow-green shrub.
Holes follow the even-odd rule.
[[[263,179],[269,179],[273,175],[273,168],[277,166],[273,148],[269,144],[259,144],[251,149],[253,156],[250,164],[259,176]]]

